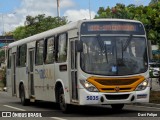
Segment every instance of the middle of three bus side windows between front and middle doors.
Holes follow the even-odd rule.
[[[46,56],[45,56],[45,63],[50,64],[55,61],[55,44],[54,44],[54,37],[51,37],[46,40]]]

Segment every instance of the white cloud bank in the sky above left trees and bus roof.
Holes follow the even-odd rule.
[[[36,16],[46,14],[46,16],[57,16],[57,0],[20,0],[21,4],[12,11],[15,14],[4,15],[4,31],[9,32],[20,25],[24,25],[27,15]],[[61,16],[67,16],[68,21],[77,21],[80,19],[90,19],[88,9],[74,10],[76,3],[74,0],[60,0]],[[91,11],[91,18],[94,18],[95,12]],[[3,28],[0,27],[0,31]]]

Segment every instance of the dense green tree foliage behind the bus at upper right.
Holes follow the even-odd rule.
[[[107,7],[105,9],[100,7],[95,19],[121,18],[139,20],[145,26],[148,39],[160,45],[160,2],[154,0],[151,2],[152,4],[149,6],[116,4],[113,8]]]

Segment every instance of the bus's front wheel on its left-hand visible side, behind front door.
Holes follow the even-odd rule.
[[[60,88],[59,90],[59,106],[63,113],[70,112],[71,106],[65,103],[65,96],[64,96],[63,88]]]

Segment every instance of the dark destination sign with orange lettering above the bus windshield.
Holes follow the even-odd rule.
[[[95,21],[84,22],[81,25],[81,34],[137,34],[144,35],[141,23],[123,21]]]

